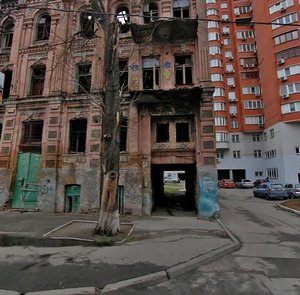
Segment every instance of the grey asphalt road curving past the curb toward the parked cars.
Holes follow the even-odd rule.
[[[300,216],[252,196],[251,189],[220,191],[221,220],[240,250],[157,286],[113,294],[300,294]]]

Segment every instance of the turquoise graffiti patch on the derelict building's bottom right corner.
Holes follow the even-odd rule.
[[[214,217],[219,215],[218,184],[212,177],[206,175],[199,181],[199,217]]]

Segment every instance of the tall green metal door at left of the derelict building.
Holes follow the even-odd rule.
[[[36,176],[40,166],[40,154],[20,153],[13,192],[13,208],[35,209],[39,184]]]

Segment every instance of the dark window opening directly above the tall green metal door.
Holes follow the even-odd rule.
[[[23,122],[21,151],[41,152],[43,136],[43,121]]]

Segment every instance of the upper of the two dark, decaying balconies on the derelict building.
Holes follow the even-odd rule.
[[[195,19],[175,18],[168,21],[155,21],[147,24],[131,24],[132,37],[135,43],[175,42],[177,40],[195,40],[198,21]]]

